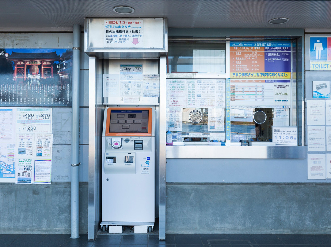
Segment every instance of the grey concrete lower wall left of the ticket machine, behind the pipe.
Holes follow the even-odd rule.
[[[0,234],[69,234],[70,183],[0,184]],[[79,184],[79,233],[87,233],[88,183]]]

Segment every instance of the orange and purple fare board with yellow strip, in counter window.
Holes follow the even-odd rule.
[[[230,42],[231,79],[290,79],[291,43]]]

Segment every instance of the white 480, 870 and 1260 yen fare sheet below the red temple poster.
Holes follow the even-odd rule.
[[[52,132],[52,108],[18,108],[17,132]]]

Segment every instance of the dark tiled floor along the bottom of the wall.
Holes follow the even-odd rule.
[[[301,234],[0,234],[0,247],[331,247],[331,235]]]

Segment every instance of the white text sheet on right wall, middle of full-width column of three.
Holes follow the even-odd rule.
[[[307,127],[308,151],[325,151],[325,126]]]

